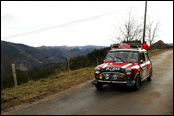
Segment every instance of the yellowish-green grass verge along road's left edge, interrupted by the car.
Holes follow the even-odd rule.
[[[173,49],[173,48],[172,48]],[[170,49],[149,51],[149,56]],[[38,81],[29,81],[17,87],[1,90],[1,113],[8,108],[36,101],[46,95],[56,93],[94,78],[94,68],[87,67],[68,72],[58,72]]]

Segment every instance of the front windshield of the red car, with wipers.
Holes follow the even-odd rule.
[[[138,62],[138,52],[112,51],[107,54],[106,62]]]

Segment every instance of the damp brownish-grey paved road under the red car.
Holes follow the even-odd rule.
[[[153,56],[151,60],[152,81],[145,80],[138,91],[108,85],[98,91],[90,80],[6,114],[173,114],[173,50]]]

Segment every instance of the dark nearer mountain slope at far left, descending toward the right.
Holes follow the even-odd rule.
[[[4,67],[8,59],[16,64],[20,70],[29,70],[34,67],[42,66],[48,63],[59,62],[58,58],[45,54],[41,50],[24,44],[15,44],[1,41],[1,65]],[[9,62],[10,63],[10,62]],[[11,67],[10,67],[11,68]]]

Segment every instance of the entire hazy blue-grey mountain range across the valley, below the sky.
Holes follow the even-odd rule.
[[[26,71],[46,64],[59,63],[79,55],[87,55],[105,46],[41,46],[31,47],[1,41],[1,68],[16,64],[16,69]],[[9,67],[8,66],[8,67]],[[11,68],[11,67],[10,67]]]

